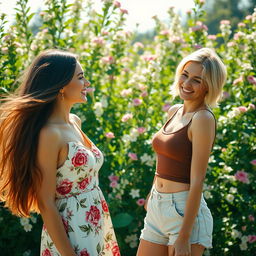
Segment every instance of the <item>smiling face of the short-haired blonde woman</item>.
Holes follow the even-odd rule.
[[[184,101],[203,103],[207,87],[202,79],[203,67],[198,62],[188,62],[179,78],[179,95]]]

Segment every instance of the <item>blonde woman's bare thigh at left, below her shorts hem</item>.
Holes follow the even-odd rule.
[[[140,240],[137,256],[168,256],[168,247],[162,244],[155,244],[149,241]]]

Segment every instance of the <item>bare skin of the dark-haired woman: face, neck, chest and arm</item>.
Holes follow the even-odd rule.
[[[77,63],[71,82],[60,90],[54,111],[39,135],[37,162],[42,171],[42,184],[37,192],[39,210],[49,235],[62,256],[76,254],[55,205],[56,172],[67,159],[68,142],[90,146],[77,127],[81,126],[80,119],[70,114],[73,104],[87,101],[86,87],[89,85],[83,76],[81,65]]]

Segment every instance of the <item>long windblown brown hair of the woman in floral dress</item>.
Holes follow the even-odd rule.
[[[38,212],[38,138],[61,88],[74,76],[76,56],[47,50],[28,68],[23,82],[0,105],[0,200],[17,216]]]

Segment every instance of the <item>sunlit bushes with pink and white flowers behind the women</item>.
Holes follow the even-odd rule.
[[[40,51],[78,54],[95,91],[73,112],[104,152],[100,185],[123,256],[136,254],[143,227],[144,199],[155,170],[151,138],[167,109],[179,103],[170,94],[175,68],[183,56],[204,46],[214,47],[228,70],[222,100],[213,110],[218,131],[204,196],[214,218],[214,248],[205,255],[256,254],[256,9],[252,1],[246,14],[234,8],[238,2],[215,1],[209,14],[204,1],[195,0],[186,22],[170,8],[168,21],[154,17],[154,30],[143,35],[124,30],[129,14],[112,0],[103,0],[100,11],[93,1],[48,0],[37,14],[20,0],[11,26],[1,14],[1,96],[17,88],[22,71]],[[40,216],[19,219],[1,207],[1,255],[39,255],[41,225]]]

